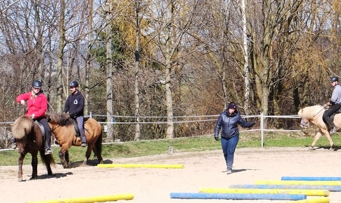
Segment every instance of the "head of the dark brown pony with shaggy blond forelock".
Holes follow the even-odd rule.
[[[24,152],[27,136],[32,132],[34,122],[30,116],[23,115],[17,118],[11,125],[13,137],[16,139],[20,153]]]

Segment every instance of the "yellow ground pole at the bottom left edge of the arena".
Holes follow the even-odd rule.
[[[70,198],[70,199],[58,199],[58,200],[46,200],[46,201],[32,201],[26,203],[104,203],[118,200],[132,200],[134,195],[131,193],[120,195],[107,195],[98,197],[87,198]]]

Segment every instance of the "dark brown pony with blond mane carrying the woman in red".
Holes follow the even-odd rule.
[[[45,155],[44,139],[39,125],[27,115],[20,116],[12,124],[12,134],[19,149],[18,181],[23,180],[23,161],[27,153],[32,155],[32,177],[37,179],[38,152],[46,166],[47,174],[52,175],[51,165],[55,165],[52,154]]]

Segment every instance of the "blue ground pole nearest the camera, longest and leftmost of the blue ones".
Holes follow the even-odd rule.
[[[283,194],[220,194],[220,193],[171,193],[171,199],[220,199],[220,200],[306,200],[306,195]]]

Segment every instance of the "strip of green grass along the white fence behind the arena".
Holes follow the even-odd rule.
[[[341,136],[335,134],[332,137],[335,147],[341,148]],[[313,141],[312,137],[304,137],[299,133],[264,133],[264,148],[270,147],[308,147]],[[146,155],[157,155],[167,153],[168,148],[173,147],[176,152],[201,152],[207,150],[220,150],[220,142],[216,142],[213,137],[199,137],[199,138],[180,138],[169,140],[156,141],[140,141],[127,142],[116,144],[103,144],[102,156],[103,159],[116,157],[136,157]],[[259,132],[243,132],[240,134],[240,139],[237,148],[260,148],[261,136]],[[324,136],[318,140],[315,147],[330,147],[327,138]],[[53,156],[57,163],[60,163],[58,152],[60,147],[52,147]],[[83,161],[85,157],[86,148],[71,147],[69,149],[70,161]],[[0,152],[0,166],[18,165],[19,154],[18,151],[1,151]],[[38,156],[39,163],[42,163]],[[90,159],[96,159],[92,156]],[[27,154],[24,159],[24,164],[31,164],[31,155]]]

